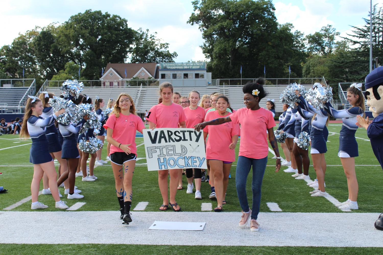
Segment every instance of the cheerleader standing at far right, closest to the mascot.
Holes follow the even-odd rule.
[[[347,89],[347,101],[352,106],[349,109],[335,110],[330,102],[325,104],[326,111],[335,119],[342,119],[343,122],[339,133],[338,157],[342,162],[347,177],[349,198],[347,201],[336,205],[342,210],[358,209],[358,181],[355,173],[355,157],[358,156],[358,143],[355,139],[355,132],[358,129],[356,125],[357,116],[363,116],[365,111],[364,96],[360,87],[362,87],[362,84],[352,84]]]

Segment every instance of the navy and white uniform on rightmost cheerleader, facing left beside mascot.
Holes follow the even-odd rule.
[[[363,110],[360,107],[351,107],[345,110],[335,110],[332,105],[326,103],[327,112],[335,119],[342,118],[342,128],[339,132],[339,158],[354,158],[358,156],[358,143],[355,139],[355,132],[357,132],[358,126],[357,116],[363,117]]]

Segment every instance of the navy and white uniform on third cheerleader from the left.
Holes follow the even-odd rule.
[[[79,150],[77,149],[77,137],[85,120],[82,119],[76,125],[69,124],[67,126],[59,123],[59,129],[64,141],[62,143],[61,158],[63,159],[75,159],[80,158]]]

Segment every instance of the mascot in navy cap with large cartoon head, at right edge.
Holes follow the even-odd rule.
[[[359,127],[367,130],[372,150],[383,169],[383,67],[375,68],[365,79],[367,106],[374,117],[372,122],[357,116]],[[383,230],[383,213],[375,222],[376,229]]]

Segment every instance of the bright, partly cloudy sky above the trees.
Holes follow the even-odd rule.
[[[383,6],[383,0],[372,1],[373,5],[377,3]],[[305,35],[331,24],[340,36],[346,36],[350,26],[364,24],[362,18],[368,18],[370,10],[370,0],[273,0],[273,4],[278,23],[292,23]],[[133,29],[157,32],[158,38],[170,44],[169,51],[177,52],[176,62],[205,60],[198,25],[187,24],[193,12],[191,0],[2,0],[0,9],[0,20],[6,23],[1,28],[0,47],[11,44],[19,32],[53,22],[63,23],[72,15],[92,9],[119,15]]]

